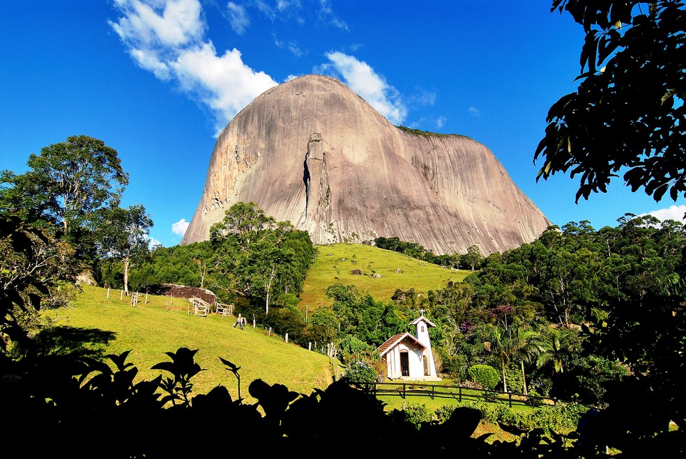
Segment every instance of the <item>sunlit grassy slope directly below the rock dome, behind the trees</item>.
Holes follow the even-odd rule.
[[[353,284],[375,299],[388,301],[397,288],[427,292],[445,287],[448,281],[462,281],[471,274],[471,271],[446,269],[363,244],[321,245],[317,249],[319,255],[307,271],[300,294],[300,307],[307,306],[310,311],[331,304],[332,300],[326,297],[326,288],[337,282]],[[360,270],[362,274],[352,274],[352,270]],[[373,274],[381,277],[375,278]]]

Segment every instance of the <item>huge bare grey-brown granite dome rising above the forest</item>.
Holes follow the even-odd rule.
[[[401,130],[319,75],[269,89],[222,131],[181,244],[240,201],[315,244],[397,237],[434,254],[505,251],[550,224],[481,143]]]

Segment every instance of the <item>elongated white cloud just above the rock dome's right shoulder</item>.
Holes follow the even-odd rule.
[[[323,70],[333,70],[342,75],[345,84],[361,98],[385,116],[391,123],[400,124],[407,116],[407,109],[400,94],[376,74],[369,64],[358,61],[342,52],[329,52],[326,57],[331,64],[322,65]]]

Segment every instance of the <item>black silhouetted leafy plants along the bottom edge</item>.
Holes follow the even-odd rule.
[[[128,351],[108,355],[109,363],[88,356],[44,356],[17,362],[2,355],[0,389],[13,394],[1,400],[3,415],[18,426],[40,419],[41,426],[40,442],[35,442],[32,429],[21,428],[6,437],[5,446],[19,451],[30,444],[35,456],[181,458],[215,454],[231,439],[234,454],[258,447],[264,455],[314,456],[339,443],[351,426],[351,446],[365,456],[387,453],[397,446],[398,438],[409,454],[470,458],[595,458],[605,457],[605,445],[614,446],[607,442],[611,439],[607,425],[561,435],[549,428],[508,426],[483,408],[442,410],[442,422],[430,421],[421,407],[387,413],[376,398],[344,380],[311,394],[254,380],[248,387],[258,400],[254,405],[244,403],[240,396],[231,398],[221,384],[207,394],[191,396],[192,378],[201,371],[194,360],[196,352],[188,348],[167,352],[171,361],[153,366],[163,373],[139,382],[134,382],[138,370],[127,361]],[[220,360],[227,376],[240,384],[240,366]],[[485,416],[496,416],[501,428],[517,440],[489,443],[490,434],[473,437]],[[632,420],[640,423],[640,419]],[[584,416],[581,421],[593,421],[593,417]],[[174,430],[184,435],[170,436]],[[658,437],[634,437],[621,457],[640,457],[655,448],[665,457],[680,457],[684,437],[679,430]]]

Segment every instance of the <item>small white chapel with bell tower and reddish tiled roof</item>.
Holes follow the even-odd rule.
[[[429,327],[436,327],[424,317],[421,309],[420,316],[410,322],[415,332],[400,333],[391,336],[386,343],[379,346],[379,356],[386,361],[388,378],[391,380],[408,381],[440,381],[436,376],[434,354],[431,350]]]

